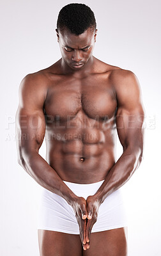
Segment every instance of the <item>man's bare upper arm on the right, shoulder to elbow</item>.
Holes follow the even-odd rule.
[[[119,141],[124,149],[129,146],[142,148],[144,108],[139,81],[132,72],[126,74],[119,82],[116,95],[116,127]]]

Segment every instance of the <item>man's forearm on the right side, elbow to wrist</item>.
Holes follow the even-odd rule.
[[[127,148],[127,150],[123,152],[116,164],[112,166],[98,191],[95,193],[95,196],[100,204],[104,202],[107,196],[109,196],[115,190],[121,188],[121,186],[123,186],[123,184],[130,179],[134,171],[139,167],[141,159],[141,150],[131,152],[131,150]]]

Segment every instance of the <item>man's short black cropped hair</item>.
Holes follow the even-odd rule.
[[[88,28],[96,29],[95,15],[86,4],[67,4],[57,17],[57,30],[62,31],[64,28],[75,35],[81,35]]]

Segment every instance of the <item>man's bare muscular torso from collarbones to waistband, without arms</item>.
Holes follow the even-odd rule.
[[[45,70],[46,159],[62,180],[98,182],[116,162],[114,68],[102,63],[102,72],[82,77]]]

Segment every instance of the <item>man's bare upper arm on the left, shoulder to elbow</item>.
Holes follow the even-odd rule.
[[[32,77],[22,81],[19,88],[19,107],[16,113],[16,135],[19,151],[38,152],[45,136],[43,113],[44,92]]]

